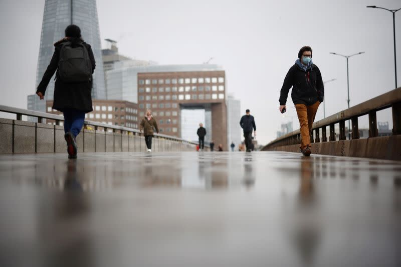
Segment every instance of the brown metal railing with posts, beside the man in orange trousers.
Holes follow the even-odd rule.
[[[351,120],[351,138],[359,139],[358,117],[368,114],[369,116],[369,137],[378,136],[376,112],[382,109],[392,109],[392,134],[401,134],[401,87],[393,89],[389,92],[378,95],[360,104],[352,106],[337,112],[324,119],[313,123],[312,132],[310,135],[311,142],[327,142],[326,127],[329,126],[329,139],[328,141],[336,140],[336,133],[334,125],[339,123],[339,140],[345,140],[345,121]],[[320,137],[320,129],[322,136]],[[277,146],[292,145],[301,143],[300,129],[287,133],[270,143],[268,143],[262,150],[268,150]]]

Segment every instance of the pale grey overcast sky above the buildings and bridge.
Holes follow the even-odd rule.
[[[351,105],[395,88],[392,15],[399,0],[98,0],[101,38],[118,41],[120,53],[159,64],[195,64],[214,57],[224,66],[228,92],[251,109],[258,139],[276,137],[282,122],[299,123],[289,95],[288,111],[278,111],[285,74],[303,45],[325,86],[326,115],[347,107],[346,60]],[[1,0],[0,104],[27,108],[35,92],[36,68],[45,0]],[[395,14],[398,86],[401,83],[401,10]],[[104,42],[103,42],[104,45]],[[291,94],[291,91],[290,91]],[[2,117],[4,115],[2,114]],[[323,118],[323,104],[316,119]],[[378,112],[389,121],[390,111]],[[367,127],[367,119],[360,119]]]

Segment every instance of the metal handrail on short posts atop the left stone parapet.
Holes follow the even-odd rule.
[[[60,121],[64,121],[64,117],[61,115],[55,115],[55,114],[41,112],[41,111],[17,108],[17,107],[12,107],[12,106],[7,106],[7,105],[0,105],[0,111],[16,114],[17,120],[22,120],[22,116],[27,115],[27,116],[37,117],[38,123],[42,123],[43,119],[53,119],[56,121],[55,122],[56,125],[60,125]],[[121,133],[123,133],[123,131],[125,131],[128,134],[131,133],[134,135],[143,135],[143,133],[139,129],[129,128],[129,127],[125,127],[125,126],[119,126],[119,125],[110,125],[110,124],[101,123],[101,122],[97,122],[97,121],[85,120],[84,128],[87,128],[87,126],[94,126],[95,130],[97,130],[98,127],[101,127],[104,129],[104,131],[107,131],[108,129],[112,129],[113,132],[120,131]],[[167,140],[172,140],[172,141],[177,141],[177,142],[182,142],[182,143],[187,143],[187,144],[194,144],[194,145],[197,144],[197,142],[184,140],[184,139],[166,135],[166,134],[155,133],[153,135],[156,138],[162,138],[162,139],[167,139]],[[205,146],[207,146],[207,145],[205,145]]]

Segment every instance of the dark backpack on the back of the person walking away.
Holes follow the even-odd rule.
[[[65,83],[89,82],[92,78],[92,63],[83,42],[63,43],[60,50],[59,78]]]

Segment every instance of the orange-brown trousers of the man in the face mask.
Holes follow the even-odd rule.
[[[301,149],[310,145],[310,134],[312,130],[312,124],[315,120],[317,108],[320,102],[317,101],[312,105],[296,104],[299,125],[301,126]]]

